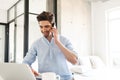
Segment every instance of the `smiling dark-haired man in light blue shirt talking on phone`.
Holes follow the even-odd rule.
[[[72,80],[72,74],[66,62],[68,60],[72,64],[77,63],[77,54],[72,44],[65,37],[58,35],[52,13],[43,11],[37,16],[37,20],[43,37],[33,43],[23,63],[31,66],[37,56],[39,73],[55,72],[60,75],[61,80]],[[35,76],[38,75],[34,69],[32,72]]]

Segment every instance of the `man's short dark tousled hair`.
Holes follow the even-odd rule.
[[[49,21],[50,23],[54,23],[54,15],[53,15],[51,12],[43,11],[42,13],[40,13],[40,14],[37,16],[37,20],[38,20],[38,22],[39,22],[39,21],[47,20],[47,21]]]

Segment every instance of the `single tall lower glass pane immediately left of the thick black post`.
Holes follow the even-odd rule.
[[[16,19],[16,56],[15,61],[21,63],[23,60],[23,49],[24,49],[24,16],[20,16]]]

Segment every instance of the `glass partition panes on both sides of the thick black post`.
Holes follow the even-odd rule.
[[[8,11],[9,25],[9,62],[21,63],[24,54],[24,0],[20,0]],[[36,14],[46,11],[46,0],[29,0],[28,49],[42,36]]]

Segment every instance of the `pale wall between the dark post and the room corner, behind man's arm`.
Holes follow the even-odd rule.
[[[80,55],[91,54],[90,3],[85,0],[61,0],[58,3],[58,27]]]

